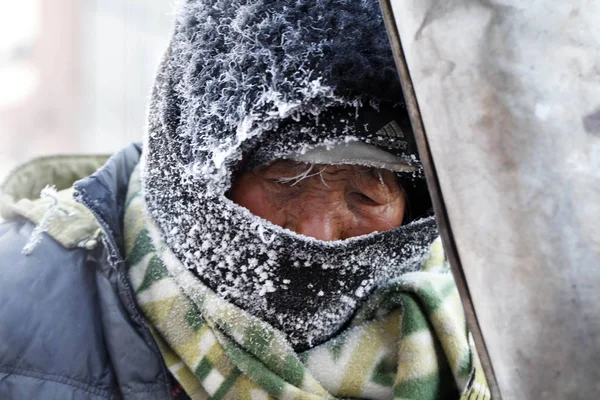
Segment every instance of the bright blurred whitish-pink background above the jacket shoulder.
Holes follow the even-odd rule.
[[[142,139],[173,0],[0,1],[0,180]]]

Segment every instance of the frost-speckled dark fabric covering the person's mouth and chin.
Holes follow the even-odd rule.
[[[170,214],[169,247],[214,292],[280,329],[298,351],[338,332],[382,282],[417,270],[437,236],[429,217],[324,242],[275,226],[225,196],[203,197],[193,220]]]

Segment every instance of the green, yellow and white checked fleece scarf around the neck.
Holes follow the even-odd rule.
[[[125,245],[138,303],[192,399],[490,399],[439,240],[421,271],[377,290],[349,328],[301,354],[181,265],[148,218],[139,168]]]

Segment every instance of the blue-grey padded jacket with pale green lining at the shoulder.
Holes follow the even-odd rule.
[[[96,172],[106,157],[38,159],[5,182],[0,399],[172,398],[123,260],[125,195],[140,151],[129,146]],[[46,185],[59,192],[33,200]]]

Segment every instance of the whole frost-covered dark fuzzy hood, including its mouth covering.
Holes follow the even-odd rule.
[[[377,129],[363,118],[390,112]],[[418,268],[433,219],[323,242],[252,215],[227,190],[243,155],[264,149],[362,141],[418,167],[414,149],[376,134],[393,121],[409,129],[376,0],[182,0],[150,104],[150,216],[215,292],[297,350],[314,346],[377,285]]]

